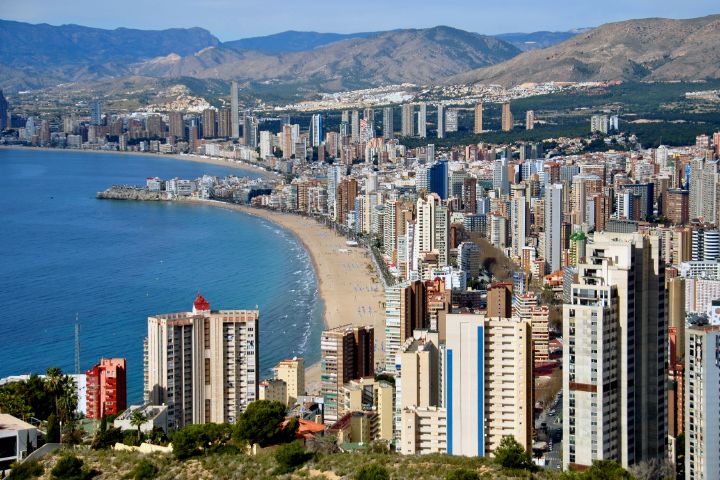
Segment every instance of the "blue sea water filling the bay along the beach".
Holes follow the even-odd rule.
[[[147,317],[260,308],[264,376],[283,359],[319,359],[322,303],[307,252],[289,232],[220,208],[97,200],[148,176],[238,170],[171,159],[0,149],[0,378],[128,360],[128,401],[142,400]],[[247,173],[246,175],[254,175]]]

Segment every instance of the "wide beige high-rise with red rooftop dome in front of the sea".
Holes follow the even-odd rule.
[[[198,294],[191,312],[148,317],[145,401],[168,406],[168,424],[234,423],[258,399],[258,310],[211,310]]]

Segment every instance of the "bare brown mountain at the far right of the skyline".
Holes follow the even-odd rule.
[[[720,78],[720,15],[608,23],[448,83]]]

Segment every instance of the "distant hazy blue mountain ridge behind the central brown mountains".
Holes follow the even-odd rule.
[[[223,46],[232,48],[233,50],[257,50],[264,53],[302,52],[341,40],[368,38],[374,35],[377,35],[377,32],[343,34],[288,30],[287,32],[275,33],[273,35],[233,40],[223,43]]]

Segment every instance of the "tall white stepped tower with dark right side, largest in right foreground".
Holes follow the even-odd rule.
[[[667,310],[660,240],[595,233],[563,306],[563,466],[661,461]]]

